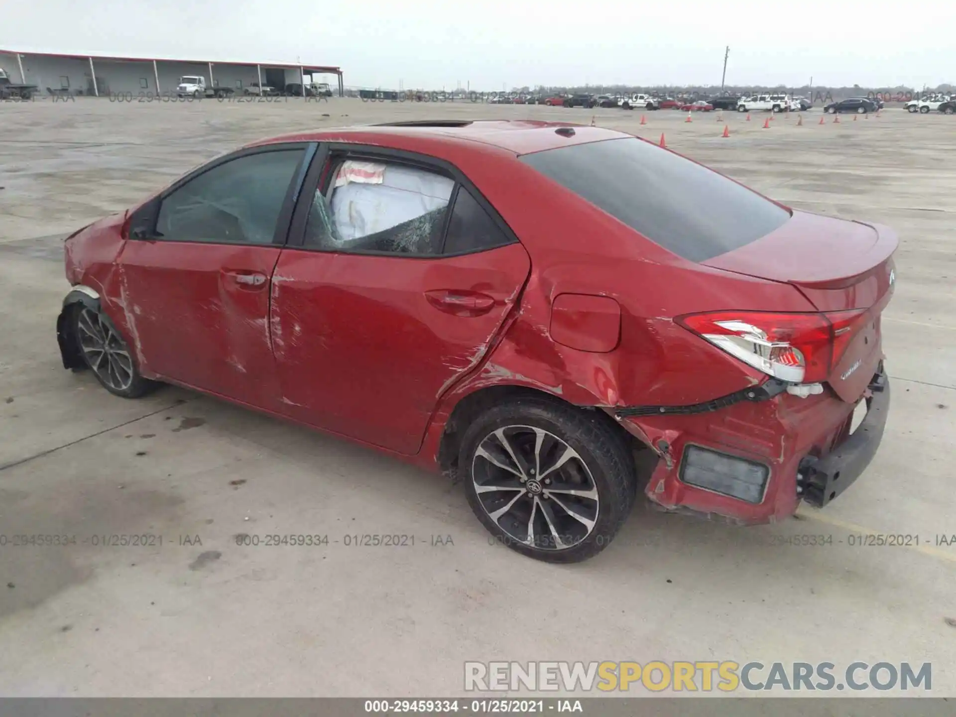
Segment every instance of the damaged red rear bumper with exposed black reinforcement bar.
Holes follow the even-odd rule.
[[[749,394],[704,411],[619,414],[660,456],[645,488],[653,503],[743,525],[786,518],[801,499],[825,506],[869,466],[889,411],[882,363],[852,434],[856,406],[829,388],[800,398],[764,384]]]

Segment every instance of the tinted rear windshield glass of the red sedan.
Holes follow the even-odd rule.
[[[521,160],[690,261],[739,249],[790,219],[750,189],[636,138],[573,144]]]

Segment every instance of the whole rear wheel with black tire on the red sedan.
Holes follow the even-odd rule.
[[[468,505],[517,553],[571,563],[606,548],[634,505],[628,446],[597,411],[521,398],[489,408],[459,452]]]

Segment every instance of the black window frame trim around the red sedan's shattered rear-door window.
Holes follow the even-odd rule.
[[[315,190],[321,187],[323,194],[328,190],[332,182],[332,169],[335,164],[344,158],[370,160],[387,163],[400,163],[424,169],[429,172],[441,174],[452,180],[455,184],[451,189],[451,195],[448,198],[447,211],[445,212],[445,224],[442,227],[442,253],[418,254],[418,253],[396,253],[394,251],[368,251],[368,250],[330,250],[320,247],[309,247],[305,244],[305,228],[309,218],[309,212],[312,209],[312,198]],[[489,247],[482,247],[475,250],[456,251],[454,253],[445,253],[445,241],[448,237],[448,226],[451,222],[451,214],[455,209],[455,201],[458,199],[458,192],[461,187],[465,187],[474,200],[489,215],[495,227],[501,230],[506,241]],[[446,259],[455,256],[467,256],[468,254],[477,254],[483,251],[490,251],[508,247],[511,244],[520,244],[517,235],[508,226],[504,218],[498,213],[498,210],[491,205],[488,199],[482,194],[468,178],[467,175],[455,164],[442,160],[438,157],[424,155],[419,152],[411,152],[405,149],[394,149],[391,147],[381,147],[375,144],[359,144],[358,142],[335,141],[321,142],[318,151],[315,153],[315,159],[309,167],[302,191],[299,192],[298,201],[295,203],[293,211],[292,225],[289,228],[289,240],[286,244],[288,249],[302,251],[315,251],[323,254],[348,254],[351,256],[389,256],[398,259],[424,259],[434,261],[436,259]]]

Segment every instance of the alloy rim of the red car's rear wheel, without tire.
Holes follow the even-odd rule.
[[[559,551],[594,531],[594,477],[574,448],[543,428],[489,433],[474,452],[471,480],[482,509],[518,543]]]

